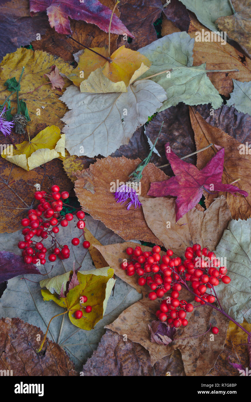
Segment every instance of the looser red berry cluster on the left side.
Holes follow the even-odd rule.
[[[67,191],[60,193],[59,191],[60,188],[57,185],[51,187],[51,193],[48,195],[45,191],[36,191],[34,198],[39,201],[39,205],[36,209],[30,209],[28,211],[28,217],[21,220],[21,225],[25,226],[22,230],[24,240],[18,243],[18,247],[23,250],[23,260],[27,264],[36,264],[40,261],[40,264],[44,265],[47,251],[50,252],[48,260],[51,262],[55,261],[57,256],[61,260],[69,258],[70,256],[70,250],[67,244],[61,246],[56,239],[59,226],[64,228],[68,225],[68,222],[73,219],[72,213],[66,213],[65,217],[60,215],[60,211],[63,209],[63,201],[61,198],[63,200],[67,199],[69,193]],[[79,238],[81,236],[84,238],[85,222],[82,220],[84,218],[84,212],[77,211],[76,216],[78,217],[77,227],[82,229]],[[35,238],[33,238],[34,236],[37,238],[40,237],[42,240],[36,241]],[[49,249],[43,245],[43,240],[48,236],[52,238],[52,246]],[[75,237],[72,239],[74,246],[80,243],[79,238]],[[83,247],[89,248],[90,243],[84,240]]]

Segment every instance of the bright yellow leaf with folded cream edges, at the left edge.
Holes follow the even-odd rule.
[[[59,156],[64,157],[64,144],[65,134],[60,134],[60,129],[52,125],[40,131],[30,141],[17,144],[17,150],[8,145],[6,150],[3,150],[1,156],[9,162],[29,171],[43,163],[49,162],[49,160],[58,158]]]

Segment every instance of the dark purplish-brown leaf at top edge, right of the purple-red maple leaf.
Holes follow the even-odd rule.
[[[152,0],[125,0],[118,4],[121,12],[120,19],[135,36],[132,43],[126,46],[138,50],[139,47],[148,45],[157,39],[154,22],[164,14],[169,20],[175,22],[181,31],[187,31],[189,27],[189,16],[185,6],[178,0],[172,0],[166,7],[165,1]],[[120,45],[125,44],[123,38]]]

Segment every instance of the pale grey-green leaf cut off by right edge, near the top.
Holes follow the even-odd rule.
[[[251,81],[239,82],[233,80],[234,90],[230,94],[230,99],[226,101],[228,106],[235,105],[238,112],[249,113],[251,115]]]

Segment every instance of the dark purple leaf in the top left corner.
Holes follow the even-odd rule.
[[[25,29],[24,29],[25,26]],[[11,0],[1,2],[0,15],[0,59],[6,53],[16,51],[17,47],[29,45],[37,37],[37,27],[40,35],[45,33],[49,26],[46,15],[31,18],[28,0]],[[7,33],[7,34],[6,34]]]

